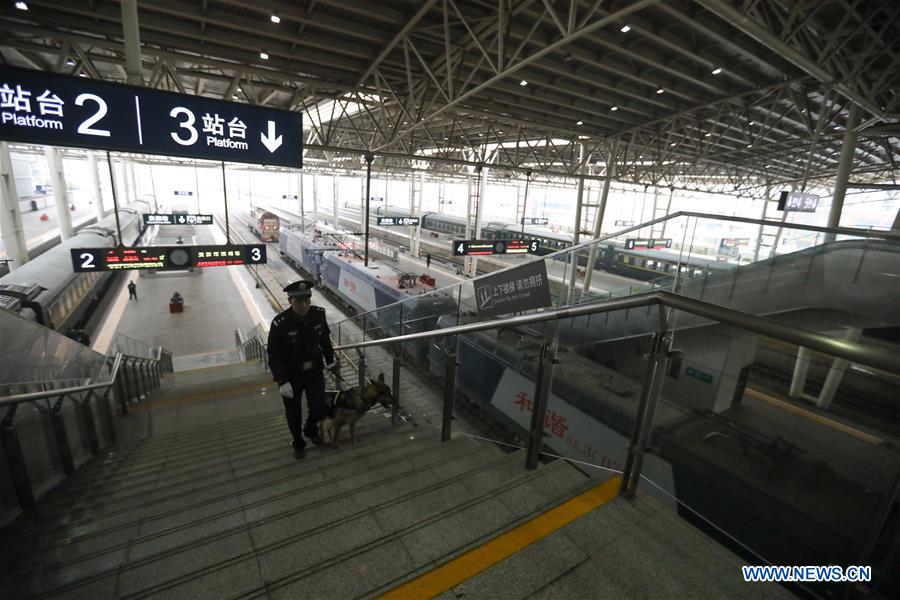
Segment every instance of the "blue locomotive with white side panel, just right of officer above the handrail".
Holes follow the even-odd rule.
[[[370,335],[430,331],[440,316],[456,314],[456,301],[436,291],[433,280],[374,260],[364,267],[349,251],[325,252],[321,276],[322,285],[342,304],[367,315],[365,327]],[[403,349],[424,364],[426,342],[409,342]]]

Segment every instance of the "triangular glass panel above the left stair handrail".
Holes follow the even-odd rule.
[[[78,382],[105,377],[106,357],[52,329],[0,311],[0,396],[26,382]],[[56,386],[61,387],[61,386]]]

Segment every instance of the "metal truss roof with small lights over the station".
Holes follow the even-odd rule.
[[[16,4],[9,64],[126,80],[118,1]],[[308,164],[612,160],[732,191],[830,186],[855,137],[851,182],[898,174],[897,0],[141,0],[138,23],[145,85],[304,111]]]

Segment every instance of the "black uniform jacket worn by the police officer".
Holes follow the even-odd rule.
[[[325,309],[310,306],[305,317],[292,308],[272,319],[269,328],[269,368],[279,385],[300,377],[304,366],[321,369],[334,362],[331,330],[325,322]],[[324,358],[324,361],[323,361]]]

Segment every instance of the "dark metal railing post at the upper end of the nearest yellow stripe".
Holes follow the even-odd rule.
[[[647,357],[647,368],[644,371],[644,382],[641,387],[641,399],[637,414],[634,417],[634,428],[628,445],[628,458],[625,461],[625,472],[619,493],[626,498],[633,498],[641,478],[644,454],[650,441],[653,429],[653,418],[659,395],[662,391],[663,375],[668,362],[670,335],[666,325],[666,309],[659,306],[659,329],[653,335],[653,346]]]

